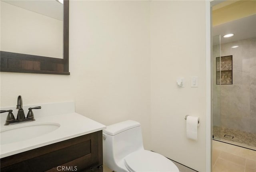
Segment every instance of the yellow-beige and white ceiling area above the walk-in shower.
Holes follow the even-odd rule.
[[[212,9],[212,36],[220,35],[221,43],[256,38],[256,0],[228,0]]]

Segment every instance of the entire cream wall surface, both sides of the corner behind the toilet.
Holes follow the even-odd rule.
[[[24,104],[74,100],[104,125],[139,121],[146,149],[205,171],[204,12],[204,1],[72,0],[70,76],[1,72],[1,106],[18,95]],[[185,115],[201,118],[198,141],[186,138]]]

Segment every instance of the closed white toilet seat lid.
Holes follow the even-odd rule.
[[[148,150],[138,150],[124,158],[129,172],[179,172],[168,158]]]

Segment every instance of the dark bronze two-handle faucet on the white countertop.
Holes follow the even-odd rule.
[[[17,99],[16,109],[18,109],[17,119],[14,118],[14,115],[12,114],[12,110],[0,111],[0,113],[8,112],[6,122],[4,125],[35,121],[34,113],[32,112],[32,109],[41,109],[41,107],[38,106],[38,107],[28,108],[28,110],[29,110],[28,115],[27,115],[27,117],[25,117],[24,110],[22,109],[22,97],[21,97],[21,95],[19,95],[18,99]]]

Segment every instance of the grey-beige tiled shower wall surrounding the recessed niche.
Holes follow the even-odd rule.
[[[231,48],[238,45],[237,48]],[[218,57],[218,45],[213,57]],[[214,70],[214,125],[256,133],[256,38],[221,44],[221,56],[233,55],[233,84],[216,85]],[[215,62],[214,62],[215,61]]]

